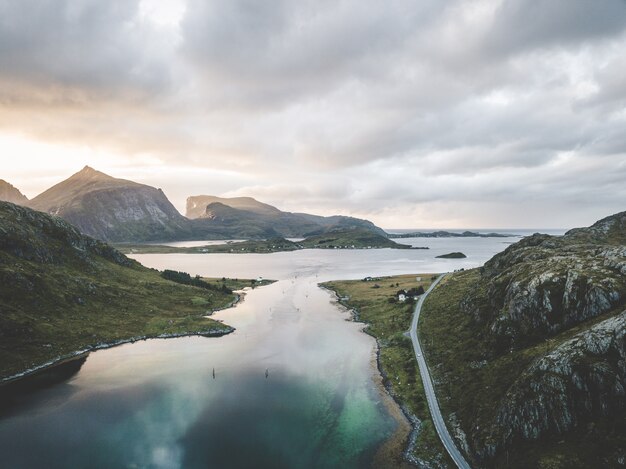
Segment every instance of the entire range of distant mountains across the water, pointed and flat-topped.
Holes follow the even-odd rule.
[[[190,197],[185,217],[161,189],[89,166],[32,200],[1,181],[0,200],[59,216],[82,233],[113,243],[307,237],[352,228],[386,236],[367,220],[283,212],[250,197]]]

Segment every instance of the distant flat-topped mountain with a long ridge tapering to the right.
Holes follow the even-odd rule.
[[[283,212],[251,197],[189,197],[187,217],[194,219],[196,230],[235,238],[299,238],[352,228],[362,228],[386,236],[382,229],[367,220],[340,215],[322,217]]]

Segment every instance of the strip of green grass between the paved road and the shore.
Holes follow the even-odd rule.
[[[389,301],[400,289],[420,285],[427,289],[432,276],[418,276],[421,277],[419,282],[416,275],[400,275],[369,282],[333,281],[322,286],[335,291],[342,298],[341,303],[355,310],[359,320],[367,324],[366,332],[378,342],[385,386],[400,404],[422,421],[414,456],[443,467],[454,467],[430,419],[411,339],[404,335],[411,325],[414,305]]]

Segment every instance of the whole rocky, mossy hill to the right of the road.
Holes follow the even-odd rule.
[[[439,399],[477,465],[623,464],[626,212],[524,238],[425,306]]]

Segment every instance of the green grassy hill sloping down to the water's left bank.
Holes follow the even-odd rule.
[[[139,337],[222,335],[234,295],[166,280],[64,220],[0,202],[0,379]]]

